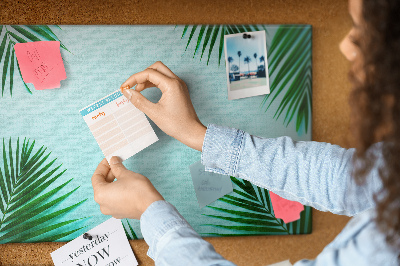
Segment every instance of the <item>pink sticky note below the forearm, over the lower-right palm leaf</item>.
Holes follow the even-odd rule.
[[[301,203],[281,198],[271,191],[269,196],[276,218],[282,219],[285,223],[300,219],[300,212],[304,210],[304,206]]]

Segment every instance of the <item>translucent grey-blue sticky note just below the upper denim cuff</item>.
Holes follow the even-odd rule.
[[[190,166],[190,173],[200,208],[233,191],[229,176],[206,172],[200,161]]]

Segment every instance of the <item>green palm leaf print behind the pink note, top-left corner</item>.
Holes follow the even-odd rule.
[[[57,26],[58,27],[58,26]],[[0,65],[2,64],[1,75],[1,97],[4,96],[4,91],[8,86],[10,95],[12,96],[14,89],[14,72],[18,69],[19,76],[24,83],[25,89],[32,94],[28,85],[22,79],[21,70],[17,58],[15,56],[14,45],[16,43],[36,42],[36,41],[59,41],[61,48],[68,51],[67,47],[58,39],[51,28],[47,25],[0,25]],[[7,76],[8,82],[7,82]],[[8,83],[8,84],[7,84]]]

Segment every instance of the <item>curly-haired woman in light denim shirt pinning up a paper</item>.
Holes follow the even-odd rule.
[[[315,260],[301,260],[297,266],[399,263],[400,1],[350,0],[349,11],[354,25],[340,49],[352,63],[357,149],[288,137],[262,139],[215,125],[206,128],[185,83],[161,62],[121,87],[128,87],[124,95],[165,133],[202,151],[207,170],[249,180],[319,210],[355,216]],[[130,89],[135,85],[136,90]],[[154,86],[162,91],[155,104],[140,94]],[[127,170],[118,158],[113,157],[110,166],[103,160],[92,183],[104,214],[140,219],[148,255],[157,265],[232,265],[146,177]]]

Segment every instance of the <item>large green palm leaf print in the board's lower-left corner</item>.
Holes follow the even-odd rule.
[[[84,218],[57,222],[57,218],[80,206],[85,200],[65,208],[57,208],[63,200],[79,187],[61,192],[72,179],[52,188],[51,185],[66,170],[54,166],[56,159],[48,162],[50,152],[42,146],[34,151],[35,141],[19,138],[13,151],[11,138],[3,138],[3,168],[0,167],[0,243],[56,241],[83,227],[76,228]],[[47,162],[46,162],[47,161]],[[60,170],[60,171],[59,171]],[[49,188],[49,189],[47,189]],[[46,190],[47,189],[47,190]],[[75,226],[72,230],[65,230]],[[61,233],[59,233],[61,232]]]

